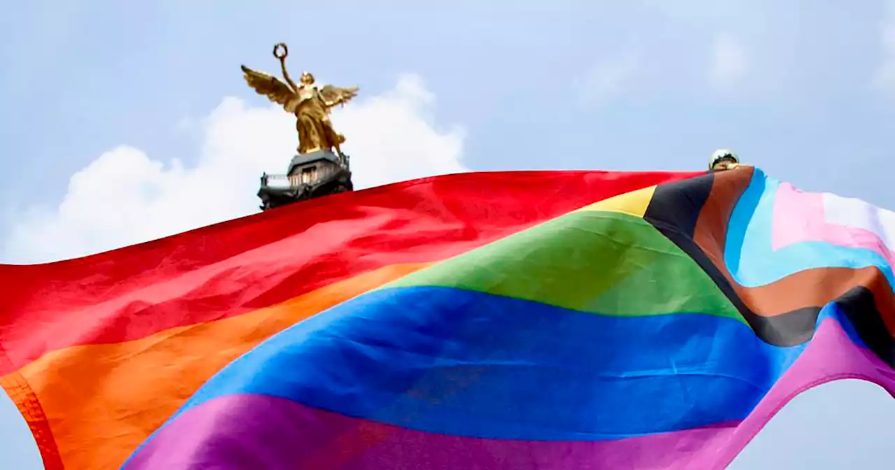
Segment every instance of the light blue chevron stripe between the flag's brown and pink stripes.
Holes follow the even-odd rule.
[[[880,253],[826,242],[802,242],[774,251],[771,247],[774,199],[780,182],[755,168],[752,181],[730,215],[724,261],[741,286],[766,286],[804,269],[866,268],[882,270],[895,286],[892,269]],[[791,214],[790,217],[801,217]]]

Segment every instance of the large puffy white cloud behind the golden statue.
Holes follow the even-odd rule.
[[[394,90],[334,110],[355,189],[465,171],[464,132],[436,129],[433,102],[418,77],[405,76]],[[163,163],[127,146],[109,150],[72,175],[58,207],[17,214],[4,261],[104,252],[257,212],[260,175],[285,172],[294,155],[294,116],[225,98],[196,125],[204,141],[194,166]]]

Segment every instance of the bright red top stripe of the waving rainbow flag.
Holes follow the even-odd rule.
[[[0,341],[18,368],[47,351],[237,315],[388,264],[439,261],[593,201],[700,174],[439,176],[72,261],[0,266]]]

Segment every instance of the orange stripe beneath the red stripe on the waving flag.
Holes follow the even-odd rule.
[[[388,266],[285,303],[148,338],[56,350],[0,384],[9,387],[36,436],[52,432],[65,468],[116,468],[206,380],[253,346],[429,264]],[[14,385],[21,379],[34,390],[45,420],[28,413],[33,403],[14,393],[21,392],[22,384]]]

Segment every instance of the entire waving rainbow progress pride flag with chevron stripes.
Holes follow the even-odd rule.
[[[49,470],[723,468],[895,393],[893,240],[752,167],[439,176],[0,266],[0,384]]]

